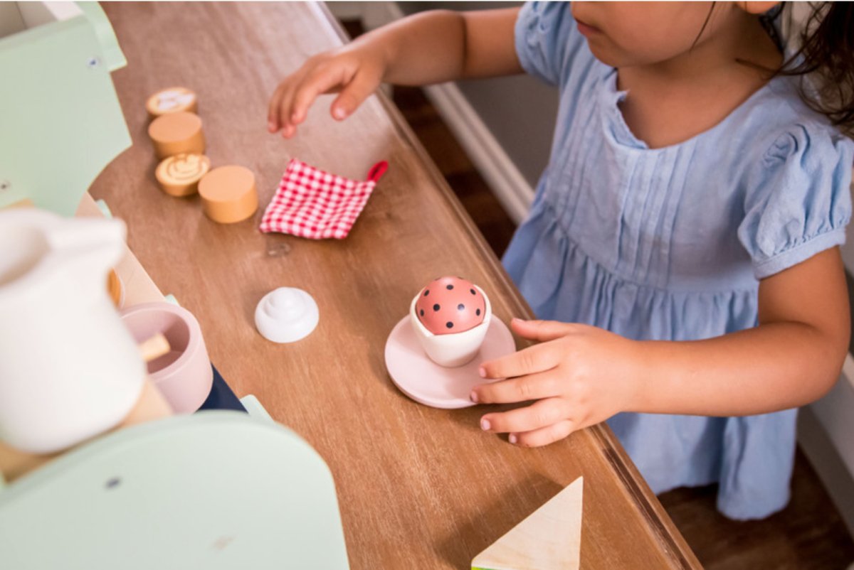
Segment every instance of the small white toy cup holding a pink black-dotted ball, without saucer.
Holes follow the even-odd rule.
[[[447,368],[475,358],[486,337],[491,312],[483,289],[453,276],[427,283],[409,307],[412,329],[424,352]]]

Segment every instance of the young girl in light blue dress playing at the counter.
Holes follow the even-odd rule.
[[[337,90],[344,119],[382,81],[525,71],[557,85],[551,159],[504,258],[549,320],[514,319],[540,343],[483,363],[507,380],[471,393],[533,403],[481,427],[535,446],[607,420],[653,491],[717,482],[725,515],[763,517],[788,500],[796,408],[833,386],[847,350],[854,162],[813,110],[821,81],[796,75],[834,79],[831,114],[851,120],[851,10],[816,17],[786,62],[760,19],[774,6],[417,15],[309,59],[272,96],[269,130],[292,137]]]

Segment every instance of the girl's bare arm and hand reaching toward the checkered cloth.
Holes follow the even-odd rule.
[[[340,120],[383,81],[423,85],[521,73],[513,39],[517,15],[518,8],[425,12],[314,55],[273,93],[268,130],[292,137],[323,93],[341,91],[330,108]]]

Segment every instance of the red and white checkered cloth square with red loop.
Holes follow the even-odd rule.
[[[260,230],[313,240],[342,240],[388,167],[385,161],[377,162],[368,172],[368,179],[359,182],[291,159],[261,218]]]

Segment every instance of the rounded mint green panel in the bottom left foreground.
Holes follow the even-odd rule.
[[[319,455],[274,422],[213,410],[108,434],[0,490],[0,567],[346,570],[348,559]]]

